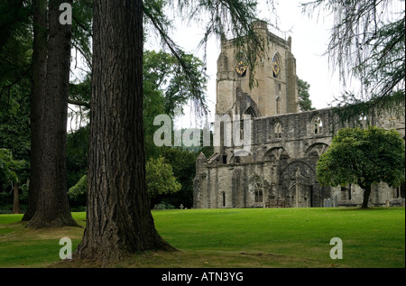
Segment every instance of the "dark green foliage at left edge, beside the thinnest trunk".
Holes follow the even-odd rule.
[[[27,1],[0,3],[0,148],[23,161],[30,155],[30,13]]]

